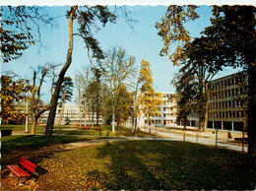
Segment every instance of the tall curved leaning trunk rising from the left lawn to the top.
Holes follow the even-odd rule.
[[[46,125],[46,129],[45,129],[45,134],[44,134],[45,137],[52,137],[53,125],[54,125],[54,120],[55,120],[55,115],[56,115],[56,109],[57,109],[57,103],[58,103],[58,98],[59,98],[59,94],[60,94],[61,84],[63,83],[65,73],[68,70],[68,68],[72,62],[73,20],[74,20],[74,14],[75,14],[76,10],[77,10],[77,6],[71,7],[70,19],[69,19],[69,48],[68,48],[68,53],[67,53],[67,61],[59,73],[59,77],[56,82],[54,94],[51,96],[50,111],[49,111],[47,125]]]

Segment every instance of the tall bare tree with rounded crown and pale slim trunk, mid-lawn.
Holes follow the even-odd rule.
[[[112,48],[106,54],[105,62],[102,67],[105,70],[105,79],[109,85],[112,98],[112,132],[115,132],[115,106],[120,89],[126,85],[135,72],[135,58],[127,56],[124,49]]]

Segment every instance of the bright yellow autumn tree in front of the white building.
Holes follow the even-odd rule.
[[[149,62],[142,60],[139,81],[143,82],[143,84],[140,88],[137,106],[142,111],[139,112],[147,116],[149,124],[151,124],[151,117],[159,114],[159,107],[162,104],[161,94],[156,93],[153,88],[153,74],[150,67],[151,64]]]

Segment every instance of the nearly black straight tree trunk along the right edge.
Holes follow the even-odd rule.
[[[247,110],[247,134],[248,134],[248,154],[247,163],[250,167],[256,167],[256,59],[248,67],[248,90],[249,101]]]

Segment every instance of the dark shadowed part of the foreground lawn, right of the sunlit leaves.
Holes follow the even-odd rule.
[[[110,158],[107,177],[94,171],[107,189],[253,189],[254,175],[245,155],[201,145],[134,141],[98,147]]]

